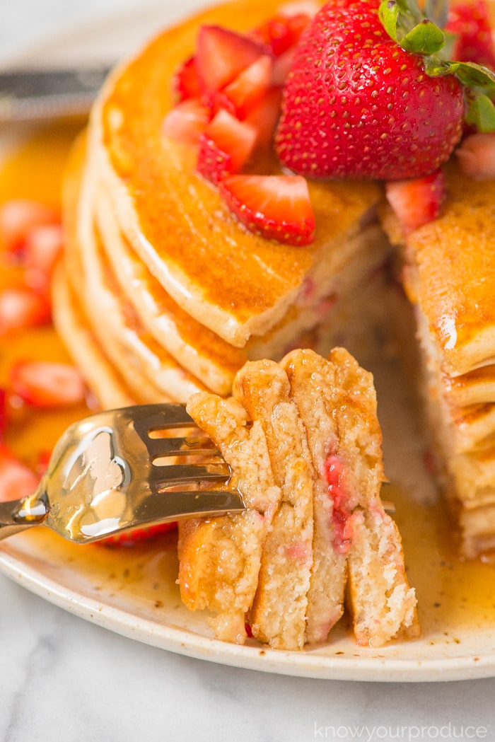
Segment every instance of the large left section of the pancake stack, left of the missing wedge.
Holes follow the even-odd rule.
[[[388,249],[376,185],[310,183],[315,242],[281,245],[243,229],[197,174],[196,149],[163,134],[174,71],[201,24],[248,30],[276,7],[240,0],[166,31],[112,74],[94,106],[66,188],[56,322],[105,406],[115,401],[107,367],[122,400],[185,401],[229,394],[247,360],[301,345],[345,345],[364,361]],[[268,155],[256,167],[279,172]],[[85,363],[78,352],[81,335],[99,354],[99,380],[91,354]]]

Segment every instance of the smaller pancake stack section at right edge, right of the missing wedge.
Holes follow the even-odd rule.
[[[404,286],[422,349],[426,430],[456,520],[462,553],[495,548],[495,182],[451,163],[441,216],[404,236]]]

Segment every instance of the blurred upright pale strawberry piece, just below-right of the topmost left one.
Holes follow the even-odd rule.
[[[46,288],[56,259],[62,253],[62,225],[42,224],[27,232],[24,244],[26,283],[34,288]]]

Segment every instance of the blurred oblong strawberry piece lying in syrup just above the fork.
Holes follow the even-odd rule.
[[[52,361],[19,361],[10,369],[10,386],[33,407],[70,407],[85,399],[79,370]]]

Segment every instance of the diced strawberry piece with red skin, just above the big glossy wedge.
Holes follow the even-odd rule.
[[[255,147],[256,131],[220,110],[200,137],[197,170],[212,183],[243,167]]]

